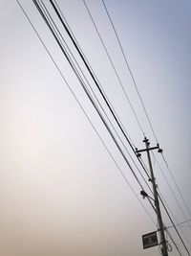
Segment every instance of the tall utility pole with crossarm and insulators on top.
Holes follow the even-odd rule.
[[[140,152],[142,152],[142,151],[147,152],[149,169],[150,169],[150,174],[151,174],[151,182],[153,185],[153,195],[154,195],[156,213],[158,216],[158,223],[159,223],[161,254],[162,254],[162,256],[168,256],[167,244],[166,244],[165,235],[164,235],[164,226],[163,226],[163,222],[161,219],[161,213],[160,213],[160,208],[159,208],[159,197],[158,197],[157,185],[156,185],[156,181],[155,181],[155,176],[154,176],[152,162],[151,162],[151,156],[150,156],[150,151],[158,150],[159,152],[161,152],[161,150],[159,149],[159,144],[157,145],[157,147],[150,148],[149,147],[150,142],[146,137],[144,138],[143,142],[145,143],[146,149],[140,150],[140,151],[138,151],[138,149],[136,149],[136,151],[138,153],[138,156],[140,156]]]

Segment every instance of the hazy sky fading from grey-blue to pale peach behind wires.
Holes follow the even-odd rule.
[[[157,230],[157,218],[151,205],[139,195],[138,182],[117,151],[32,1],[22,0],[20,3],[89,120],[17,2],[1,0],[0,254],[160,255],[158,246],[148,249],[142,247],[142,235]],[[44,3],[51,11],[48,1]],[[138,149],[143,149],[144,136],[83,1],[57,0],[57,3],[133,144]],[[99,0],[87,0],[86,4],[113,59],[141,127],[151,146],[156,146],[156,139],[103,3]],[[105,0],[105,4],[138,84],[138,91],[157,134],[160,148],[191,211],[191,2]],[[54,13],[53,18],[58,24]],[[59,28],[99,101],[104,105],[74,46],[61,25]],[[105,105],[104,108],[106,109]],[[108,110],[106,112],[112,118]],[[137,197],[119,173],[96,131]],[[118,129],[117,131],[119,132]],[[122,138],[122,134],[119,134]],[[127,159],[145,188],[131,157],[135,161],[137,159],[123,138],[122,141],[130,153],[127,154]],[[157,151],[155,155],[171,186],[170,190],[152,155],[156,182],[173,218],[179,223],[190,220],[191,215],[182,202],[161,155]],[[147,165],[144,153],[142,159]],[[140,170],[144,175],[143,170]],[[161,213],[165,225],[171,226],[163,209]],[[188,223],[191,224],[185,222],[180,225],[179,230],[191,252],[191,229]],[[174,229],[169,228],[169,231],[182,255],[187,255]],[[173,251],[169,254],[179,255],[175,246],[170,241],[169,243],[173,246]]]

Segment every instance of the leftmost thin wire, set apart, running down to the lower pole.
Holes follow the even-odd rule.
[[[96,127],[94,126],[94,124],[92,123],[90,117],[88,116],[87,112],[85,111],[85,109],[83,108],[83,106],[80,104],[79,100],[77,99],[77,97],[74,94],[74,91],[72,89],[72,87],[70,86],[70,84],[68,83],[68,81],[66,81],[63,73],[61,72],[60,68],[58,67],[58,65],[56,64],[51,52],[49,51],[49,49],[47,48],[46,44],[44,43],[44,41],[42,40],[41,36],[38,34],[38,32],[36,31],[35,27],[32,24],[32,21],[29,17],[29,15],[27,14],[27,12],[25,12],[24,8],[22,7],[21,3],[19,2],[19,0],[16,0],[17,4],[19,5],[21,11],[24,13],[24,15],[26,16],[27,20],[29,21],[30,25],[32,26],[32,30],[34,31],[35,35],[37,35],[37,37],[39,38],[41,44],[43,45],[44,49],[46,50],[47,54],[49,55],[49,57],[51,58],[51,60],[53,61],[53,65],[55,66],[55,68],[57,69],[59,75],[61,76],[62,80],[65,81],[66,85],[68,86],[70,92],[72,93],[72,95],[74,96],[74,100],[76,101],[77,105],[79,105],[80,109],[82,110],[83,114],[86,116],[88,122],[90,123],[91,127],[95,130],[97,137],[99,138],[99,140],[101,141],[103,147],[105,148],[105,150],[109,153],[110,157],[112,158],[112,160],[114,161],[115,165],[117,166],[117,170],[119,171],[120,175],[122,175],[122,177],[124,178],[125,182],[128,184],[128,186],[130,187],[130,189],[132,190],[133,194],[135,195],[135,197],[138,199],[138,202],[141,204],[141,206],[143,207],[145,213],[147,214],[147,216],[149,217],[149,219],[156,225],[156,222],[153,220],[152,216],[149,214],[149,212],[147,211],[147,209],[145,208],[145,206],[143,205],[143,203],[140,201],[140,199],[138,198],[138,195],[136,194],[134,188],[131,186],[130,182],[128,181],[126,175],[124,175],[124,173],[122,172],[122,170],[120,169],[120,167],[117,164],[116,159],[114,158],[113,154],[111,153],[111,151],[109,151],[109,148],[107,147],[107,145],[105,144],[105,142],[103,141],[103,139],[101,138],[100,134],[98,133]]]

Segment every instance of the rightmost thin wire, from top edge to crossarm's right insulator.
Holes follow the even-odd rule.
[[[157,138],[156,132],[155,132],[155,130],[154,130],[154,128],[153,128],[151,119],[150,119],[150,117],[149,117],[149,115],[148,115],[148,112],[147,112],[147,110],[146,110],[146,107],[145,107],[145,105],[144,105],[144,102],[143,102],[143,100],[142,100],[142,97],[141,97],[141,95],[140,95],[140,93],[139,93],[139,91],[138,91],[138,84],[137,84],[137,82],[136,82],[136,80],[135,80],[135,77],[134,77],[133,72],[132,72],[132,70],[131,70],[131,68],[130,68],[129,62],[128,62],[128,60],[127,60],[127,58],[126,58],[126,55],[125,55],[125,53],[124,53],[124,50],[123,50],[122,44],[121,44],[121,42],[120,42],[119,36],[117,35],[117,30],[116,30],[116,27],[115,27],[115,25],[114,25],[114,22],[113,22],[113,20],[112,20],[112,18],[111,18],[111,15],[110,15],[110,13],[109,13],[107,7],[106,7],[106,4],[105,4],[104,0],[101,0],[101,1],[102,1],[102,3],[103,3],[105,12],[106,12],[107,15],[108,15],[108,18],[109,18],[109,20],[110,20],[110,23],[111,23],[111,25],[112,25],[112,27],[113,27],[114,33],[115,33],[115,35],[116,35],[116,37],[117,37],[117,42],[118,42],[118,45],[119,45],[121,54],[122,54],[122,56],[123,56],[123,58],[124,58],[126,67],[127,67],[128,71],[129,71],[129,73],[130,73],[130,76],[131,76],[131,78],[132,78],[132,81],[133,81],[133,83],[134,83],[134,86],[135,86],[135,88],[136,88],[136,91],[137,91],[137,93],[138,93],[138,98],[139,98],[139,100],[140,100],[140,103],[141,103],[141,105],[142,105],[142,108],[143,108],[143,110],[144,110],[144,113],[145,113],[145,115],[146,115],[146,118],[147,118],[147,120],[148,120],[149,126],[150,126],[150,128],[151,128],[151,130],[152,130],[152,132],[153,132],[153,135],[154,135],[154,137],[155,137],[155,139],[156,139],[156,142],[158,143],[158,138]]]

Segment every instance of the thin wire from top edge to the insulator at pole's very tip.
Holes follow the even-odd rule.
[[[92,13],[90,12],[90,9],[88,8],[88,6],[87,6],[85,0],[83,0],[83,3],[84,3],[84,6],[85,6],[87,12],[89,13],[89,16],[90,16],[90,18],[91,18],[91,20],[92,20],[92,23],[93,23],[94,27],[95,27],[96,34],[98,35],[98,37],[99,37],[99,39],[100,39],[100,42],[101,42],[101,44],[102,44],[102,46],[103,46],[103,48],[104,48],[104,50],[105,50],[105,53],[106,53],[107,57],[109,58],[109,61],[110,61],[111,65],[112,65],[112,67],[113,67],[113,70],[114,70],[114,72],[115,72],[115,74],[116,74],[116,76],[117,76],[117,81],[119,82],[120,87],[121,87],[121,89],[122,89],[122,91],[123,91],[123,93],[124,93],[124,95],[125,95],[125,98],[126,98],[128,104],[130,105],[130,107],[131,107],[133,113],[134,113],[134,116],[135,116],[135,118],[136,118],[136,120],[137,120],[137,123],[138,123],[138,127],[140,128],[140,130],[141,130],[143,136],[145,136],[145,132],[144,132],[143,128],[141,127],[140,122],[139,122],[139,120],[138,120],[138,115],[137,115],[137,113],[136,113],[136,110],[134,109],[134,107],[133,107],[133,105],[132,105],[132,103],[131,103],[131,101],[130,101],[128,95],[127,95],[127,92],[125,91],[124,85],[123,85],[122,81],[121,81],[120,78],[119,78],[119,75],[118,75],[118,73],[117,73],[117,68],[115,67],[115,64],[114,64],[114,62],[113,62],[113,60],[112,60],[112,58],[111,58],[111,56],[110,56],[110,54],[109,54],[109,52],[108,52],[108,50],[107,50],[107,47],[106,47],[106,45],[105,45],[105,43],[104,43],[104,41],[103,41],[103,39],[102,39],[102,37],[101,37],[101,35],[100,35],[100,33],[99,33],[97,27],[96,27],[96,22],[95,22],[95,20],[94,20],[94,18],[93,18],[93,15],[92,15]]]

